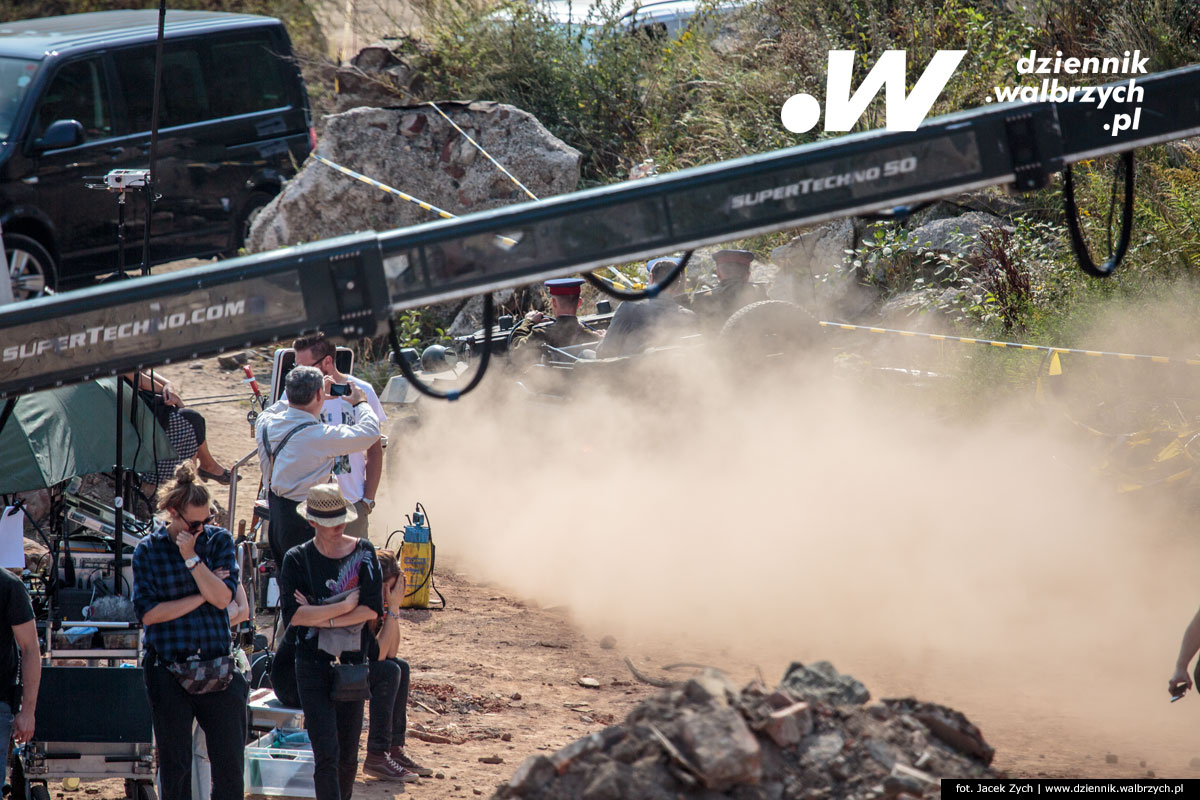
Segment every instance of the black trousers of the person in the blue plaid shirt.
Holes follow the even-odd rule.
[[[158,748],[162,800],[192,800],[192,721],[200,723],[212,763],[212,800],[242,799],[246,694],[240,673],[222,692],[190,694],[161,663],[148,658],[143,675]]]

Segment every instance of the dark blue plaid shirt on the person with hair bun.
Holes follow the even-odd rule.
[[[224,583],[238,591],[238,559],[233,536],[224,528],[205,525],[196,540],[196,554],[210,570],[229,570]],[[158,603],[199,594],[179,547],[160,523],[133,551],[133,607],[138,619]],[[160,661],[185,661],[199,654],[216,658],[229,652],[229,613],[205,602],[199,608],[167,622],[146,625],[146,645]]]

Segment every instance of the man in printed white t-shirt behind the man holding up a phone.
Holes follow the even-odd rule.
[[[332,378],[335,384],[356,386],[362,391],[379,428],[388,421],[374,387],[354,375],[347,375],[337,369],[337,348],[325,338],[324,333],[306,336],[292,344],[296,354],[296,363],[305,367],[317,367],[322,374]],[[331,397],[325,401],[320,411],[320,421],[326,425],[350,425],[354,422],[354,408],[346,397]],[[348,456],[340,457],[334,463],[334,475],[342,489],[342,497],[354,504],[358,519],[346,527],[346,533],[359,539],[367,539],[367,515],[374,510],[376,493],[383,475],[383,440],[376,440],[370,447]]]

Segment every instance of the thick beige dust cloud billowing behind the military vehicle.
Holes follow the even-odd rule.
[[[1111,347],[1129,320],[1098,324]],[[487,393],[422,402],[388,468],[392,516],[421,500],[472,578],[623,645],[695,643],[769,681],[824,658],[875,697],[953,705],[1018,775],[1086,776],[1109,751],[1130,775],[1186,772],[1200,709],[1165,690],[1200,602],[1192,521],[1170,493],[1116,492],[1097,469],[1114,439],[1063,414],[1129,379],[955,405],[936,380],[829,368],[854,347],[871,366],[920,360],[912,339],[739,372],[659,354],[632,387],[564,375],[566,402],[497,369]],[[990,357],[938,353],[946,373]],[[1156,386],[1170,368],[1130,368],[1147,396],[1178,390]]]

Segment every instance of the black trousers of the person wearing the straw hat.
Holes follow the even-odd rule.
[[[304,727],[312,742],[317,800],[350,800],[354,776],[359,771],[364,703],[335,703],[330,699],[332,662],[314,658],[302,649],[296,650],[296,687],[300,690],[300,708],[304,709]]]

